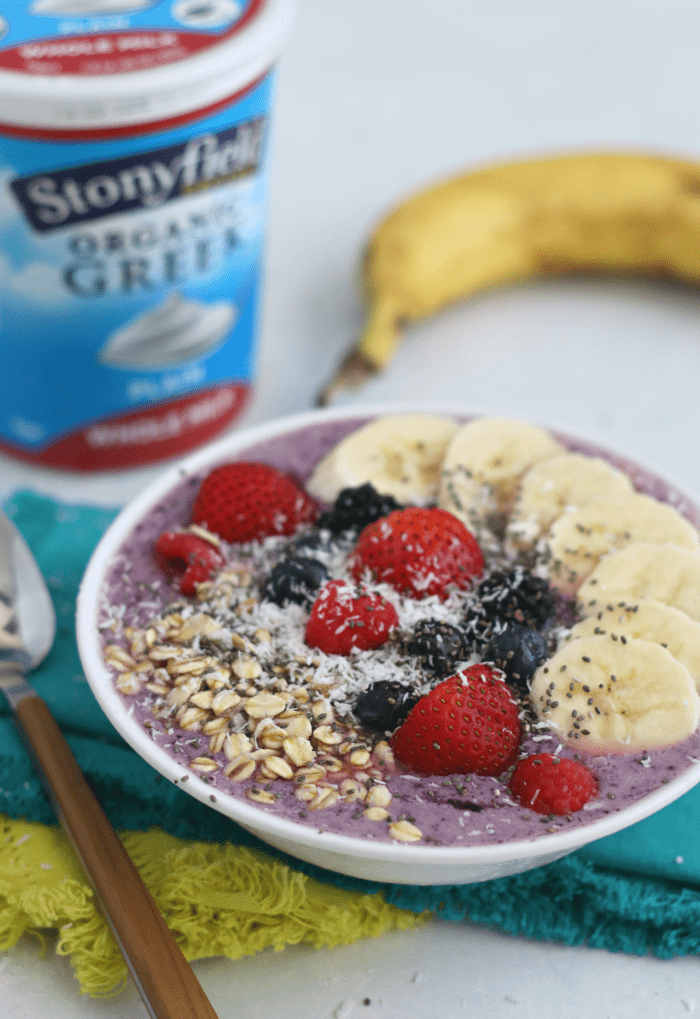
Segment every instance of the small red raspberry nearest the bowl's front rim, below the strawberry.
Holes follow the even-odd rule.
[[[532,754],[519,761],[510,792],[538,814],[571,814],[598,794],[598,782],[585,764],[553,754]]]

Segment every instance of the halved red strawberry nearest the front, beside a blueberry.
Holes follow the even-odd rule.
[[[391,737],[397,759],[418,774],[504,771],[520,745],[518,705],[503,674],[470,665],[421,697]]]

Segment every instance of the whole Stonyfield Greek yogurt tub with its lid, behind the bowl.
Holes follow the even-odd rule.
[[[290,0],[22,0],[0,17],[0,449],[194,448],[255,371]]]

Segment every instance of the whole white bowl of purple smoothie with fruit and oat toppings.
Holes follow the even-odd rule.
[[[539,425],[310,412],[122,511],[78,647],[126,742],[266,843],[487,880],[700,780],[698,528],[652,470]]]

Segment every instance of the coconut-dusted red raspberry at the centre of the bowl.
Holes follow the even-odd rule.
[[[342,580],[325,584],[311,607],[306,639],[326,654],[380,647],[394,627],[396,609],[381,595]]]

